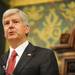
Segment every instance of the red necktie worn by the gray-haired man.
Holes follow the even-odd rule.
[[[11,57],[9,58],[9,61],[8,61],[6,75],[12,75],[12,73],[14,71],[15,62],[16,62],[16,55],[17,55],[16,51],[13,50]]]

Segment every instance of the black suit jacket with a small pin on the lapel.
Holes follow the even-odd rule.
[[[6,66],[8,54],[5,54],[0,60],[1,69],[3,66]],[[53,51],[33,46],[29,43],[13,75],[59,75],[57,61]]]

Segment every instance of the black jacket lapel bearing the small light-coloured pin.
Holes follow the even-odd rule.
[[[16,72],[19,73],[22,70],[22,68],[25,67],[29,63],[29,61],[33,57],[34,50],[35,50],[35,47],[29,43],[29,45],[25,49],[24,53],[22,54],[17,66],[14,70],[14,74]]]

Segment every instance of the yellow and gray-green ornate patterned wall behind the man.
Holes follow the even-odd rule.
[[[75,2],[44,3],[18,7],[29,17],[30,41],[41,47],[59,43],[61,33],[70,31],[75,23]]]

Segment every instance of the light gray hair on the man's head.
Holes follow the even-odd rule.
[[[20,15],[22,21],[24,22],[24,24],[29,26],[28,16],[18,8],[11,8],[11,9],[6,10],[3,14],[2,23],[4,24],[5,17],[7,17],[8,15],[11,15],[11,14],[15,14],[15,13],[18,13]]]

